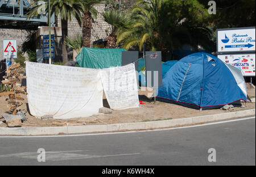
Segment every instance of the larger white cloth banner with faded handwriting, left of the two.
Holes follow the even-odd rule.
[[[87,117],[103,107],[98,69],[26,62],[31,115],[55,119]]]

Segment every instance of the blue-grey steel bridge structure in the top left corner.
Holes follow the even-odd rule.
[[[0,28],[37,29],[47,26],[47,16],[39,15],[27,20],[27,12],[31,9],[32,0],[0,0]],[[55,15],[51,17],[51,25],[55,26]]]

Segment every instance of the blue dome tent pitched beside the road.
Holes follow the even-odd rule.
[[[240,70],[208,53],[193,53],[176,62],[163,77],[156,99],[197,109],[220,108],[246,101]]]

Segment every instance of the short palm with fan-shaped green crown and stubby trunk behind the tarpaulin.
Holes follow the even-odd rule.
[[[116,48],[117,45],[117,30],[129,23],[129,16],[119,12],[118,10],[108,10],[102,13],[102,16],[108,24],[110,24],[110,34],[106,48]]]

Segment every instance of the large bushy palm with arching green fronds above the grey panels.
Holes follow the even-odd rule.
[[[205,9],[193,5],[203,15],[198,15],[197,9],[191,10],[187,1],[138,0],[131,11],[131,24],[118,29],[117,44],[125,49],[138,47],[142,50],[146,44],[147,50],[162,50],[163,52],[181,49],[184,44],[209,47],[210,31],[204,27]],[[192,3],[192,2],[189,2]],[[189,14],[190,13],[190,14]],[[196,15],[195,15],[196,14]]]

